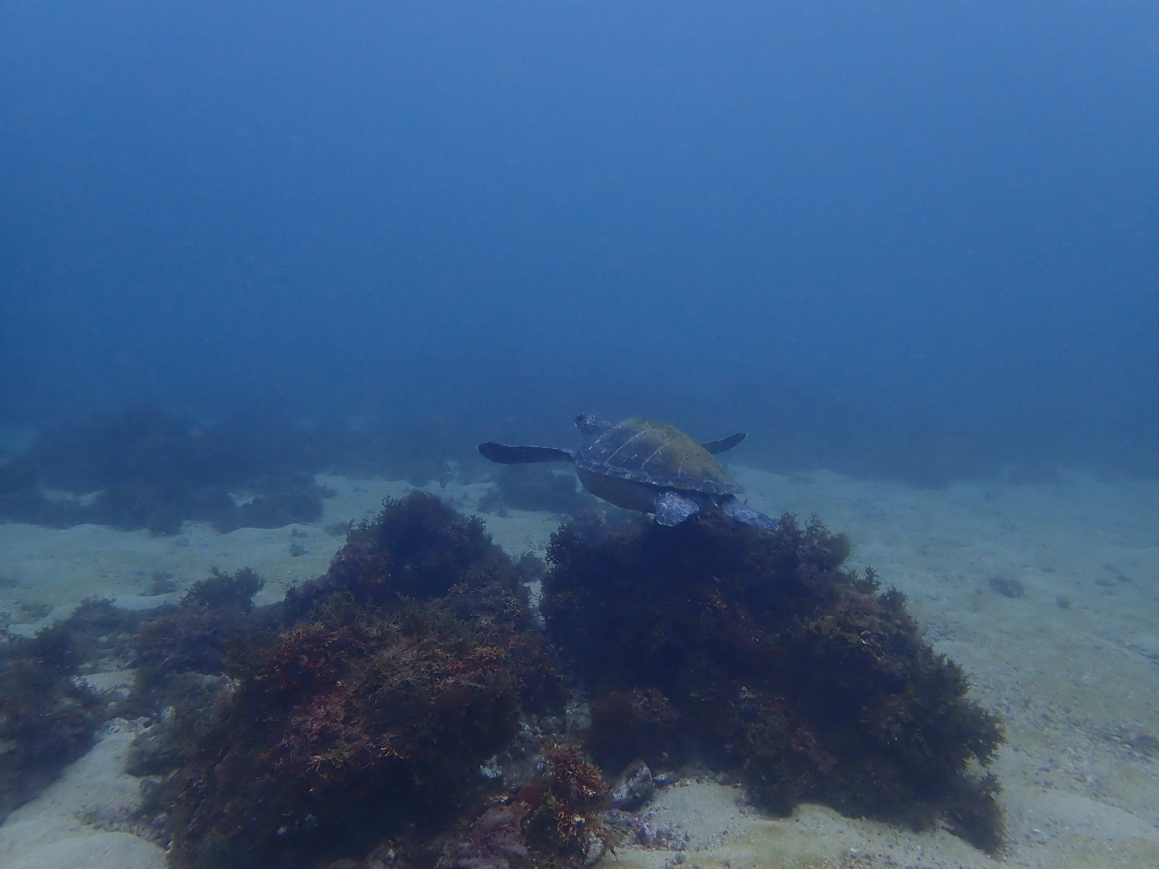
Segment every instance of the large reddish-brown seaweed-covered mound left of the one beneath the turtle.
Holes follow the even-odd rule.
[[[479,806],[480,767],[524,710],[562,703],[520,584],[532,569],[423,492],[352,528],[327,576],[250,615],[276,615],[276,628],[223,640],[220,664],[190,665],[228,678],[174,704],[163,738],[137,758],[162,776],[146,811],[163,817],[173,864],[363,857],[384,837],[421,842]],[[187,600],[229,598],[221,579]]]

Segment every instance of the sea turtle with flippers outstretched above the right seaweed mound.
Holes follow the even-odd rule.
[[[570,461],[592,495],[627,510],[655,513],[661,525],[679,525],[701,507],[720,507],[737,521],[777,530],[777,521],[742,501],[743,491],[714,453],[731,450],[745,434],[698,444],[679,429],[651,419],[614,425],[591,414],[576,417],[588,436],[580,450],[487,443],[479,452],[502,465]]]

